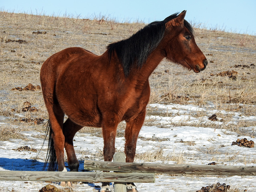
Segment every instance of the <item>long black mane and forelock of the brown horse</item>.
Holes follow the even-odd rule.
[[[165,32],[165,24],[176,17],[178,17],[178,13],[172,14],[163,21],[148,24],[126,40],[109,44],[107,46],[109,58],[111,59],[113,52],[116,51],[118,59],[124,69],[124,74],[127,77],[133,66],[137,66],[138,68],[142,67],[150,53],[154,51],[162,41]],[[193,33],[192,26],[186,20],[184,20],[184,25]]]

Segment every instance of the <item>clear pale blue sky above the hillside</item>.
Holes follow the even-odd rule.
[[[256,35],[256,0],[0,0],[0,10],[121,22],[164,20],[187,10],[186,20],[206,28]]]

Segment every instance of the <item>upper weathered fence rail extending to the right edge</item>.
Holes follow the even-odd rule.
[[[250,175],[256,176],[256,166],[224,166],[224,165],[174,165],[155,163],[116,163],[100,161],[84,161],[84,169],[165,174],[198,174],[198,175]]]

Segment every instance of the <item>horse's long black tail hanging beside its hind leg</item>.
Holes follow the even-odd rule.
[[[46,165],[49,162],[48,168],[47,168],[48,171],[58,170],[57,157],[56,157],[56,153],[53,145],[52,133],[53,132],[52,132],[50,120],[48,120],[46,132],[45,132],[45,138],[44,138],[44,142],[45,142],[47,135],[49,135],[48,150],[47,150],[46,159],[43,167],[43,170],[45,170]]]

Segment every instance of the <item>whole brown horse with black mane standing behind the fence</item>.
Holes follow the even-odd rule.
[[[48,170],[78,171],[73,138],[83,126],[101,127],[104,161],[115,152],[116,128],[126,122],[126,162],[133,162],[136,142],[150,97],[148,78],[163,58],[198,73],[207,60],[196,45],[186,11],[152,22],[126,40],[108,45],[101,56],[83,48],[67,48],[48,58],[40,78],[49,113]],[[68,119],[64,121],[64,114]],[[58,165],[56,165],[56,161]],[[128,191],[137,191],[127,184]],[[110,192],[102,183],[101,192]]]

